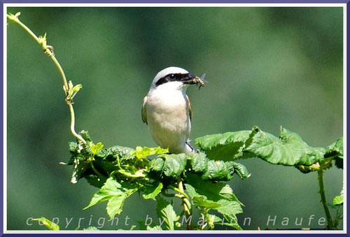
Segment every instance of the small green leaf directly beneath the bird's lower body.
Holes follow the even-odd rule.
[[[179,177],[185,171],[187,158],[186,154],[179,155],[161,155],[165,159],[163,171],[169,177]]]

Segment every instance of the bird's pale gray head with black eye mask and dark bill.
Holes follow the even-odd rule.
[[[176,66],[170,66],[169,68],[163,69],[155,76],[151,85],[151,89],[166,85],[167,83],[176,83],[179,85],[179,87],[181,87],[181,85],[185,85],[185,87],[187,87],[187,85],[196,84],[195,78],[197,77],[193,74],[190,74],[185,69],[181,69]]]

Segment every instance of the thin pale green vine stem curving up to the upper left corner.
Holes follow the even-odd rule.
[[[59,64],[58,60],[55,57],[55,54],[53,53],[52,50],[52,46],[47,45],[46,43],[46,34],[43,37],[38,37],[36,36],[36,34],[33,33],[33,31],[31,31],[31,29],[29,29],[25,24],[23,24],[19,19],[18,16],[20,15],[20,13],[16,13],[15,15],[12,14],[6,14],[6,17],[9,20],[12,20],[13,22],[19,24],[23,29],[25,29],[25,31],[27,31],[27,33],[34,38],[34,40],[41,45],[41,47],[43,48],[45,54],[49,55],[50,58],[52,59],[52,61],[54,62],[54,64],[56,65],[59,73],[62,76],[62,81],[63,81],[63,87],[64,87],[64,92],[66,93],[66,98],[70,98],[69,100],[66,99],[66,103],[69,106],[69,111],[71,113],[71,133],[73,134],[73,136],[75,136],[78,140],[80,140],[81,142],[83,142],[84,144],[86,143],[86,141],[84,140],[84,138],[82,138],[79,134],[76,133],[76,130],[74,129],[75,127],[75,115],[74,115],[74,110],[73,110],[73,105],[72,105],[72,101],[71,101],[71,97],[69,97],[69,85],[68,82],[66,80],[66,76],[64,74],[64,71],[62,69],[61,64]],[[71,83],[71,82],[70,82]]]

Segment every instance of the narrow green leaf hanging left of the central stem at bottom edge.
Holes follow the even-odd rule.
[[[163,199],[162,196],[158,195],[155,197],[155,199],[157,201],[158,217],[160,217],[160,220],[164,220],[163,229],[173,231],[174,222],[178,220],[173,206],[167,200]]]

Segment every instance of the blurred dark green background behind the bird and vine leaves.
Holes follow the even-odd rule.
[[[180,66],[209,83],[188,89],[194,108],[191,138],[251,129],[279,135],[281,125],[311,146],[343,135],[342,8],[8,8],[48,44],[74,84],[76,130],[88,130],[106,147],[155,146],[141,121],[141,103],[158,71]],[[7,227],[29,217],[59,217],[61,229],[129,229],[156,217],[155,201],[134,194],[118,226],[107,222],[106,203],[82,210],[97,189],[69,182],[69,108],[62,79],[41,47],[17,24],[7,27]],[[241,161],[251,178],[230,185],[244,203],[243,229],[283,228],[295,218],[322,228],[325,217],[316,173]],[[342,170],[325,171],[328,202],[342,189]],[[179,209],[179,203],[176,208]],[[276,215],[275,226],[267,218]],[[309,216],[315,215],[309,226]],[[66,227],[66,220],[71,223]],[[243,225],[244,217],[251,223]],[[66,227],[66,228],[65,228]]]

